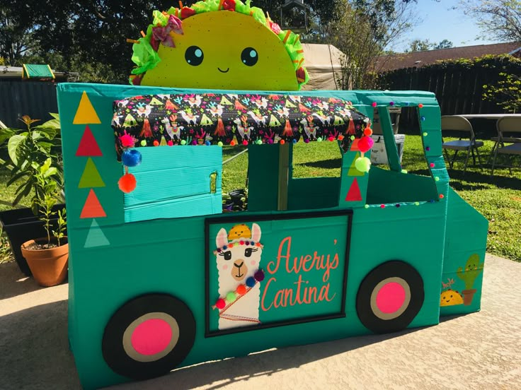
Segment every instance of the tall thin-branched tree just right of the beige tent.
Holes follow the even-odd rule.
[[[396,42],[417,20],[414,1],[342,0],[326,30],[328,43],[345,54],[338,86],[342,89],[377,87],[377,62],[384,50]]]

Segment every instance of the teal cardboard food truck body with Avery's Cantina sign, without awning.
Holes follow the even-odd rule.
[[[137,188],[120,191],[127,171],[113,105],[133,96],[245,92],[57,88],[69,340],[84,388],[479,310],[487,221],[449,187],[433,94],[291,93],[352,102],[370,119],[376,102],[391,169],[357,170],[360,150],[351,143],[340,148],[340,177],[296,179],[291,142],[249,142],[248,211],[222,213],[217,145],[137,147],[142,165],[128,168]],[[389,102],[418,110],[430,177],[402,172]]]

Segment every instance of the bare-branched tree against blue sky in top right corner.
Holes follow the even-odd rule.
[[[459,8],[474,16],[491,40],[521,42],[520,0],[461,0]]]

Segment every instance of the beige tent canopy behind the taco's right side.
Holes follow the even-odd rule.
[[[304,66],[309,73],[309,83],[302,90],[338,90],[343,52],[333,45],[303,43]]]

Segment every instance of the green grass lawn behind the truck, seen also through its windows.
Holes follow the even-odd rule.
[[[492,144],[485,141],[482,160],[486,162]],[[244,150],[243,147],[225,146],[223,160],[231,158]],[[420,136],[406,136],[403,151],[403,169],[411,174],[428,175],[427,163],[423,157]],[[463,199],[482,213],[490,222],[488,228],[487,251],[515,261],[521,261],[521,170],[499,169],[494,177],[490,176],[487,166],[481,171],[479,167],[470,166],[463,175],[463,159],[458,159],[454,170],[449,171],[451,187]],[[246,172],[248,154],[227,162],[223,167],[222,187],[225,192],[232,189],[246,188]],[[338,177],[340,175],[340,151],[333,142],[297,143],[294,146],[294,177]],[[0,200],[9,202],[14,198],[15,186],[6,189],[7,172],[0,170]],[[27,201],[24,203],[28,204]],[[9,206],[0,204],[0,211]],[[0,262],[6,259],[6,242],[0,242]]]

